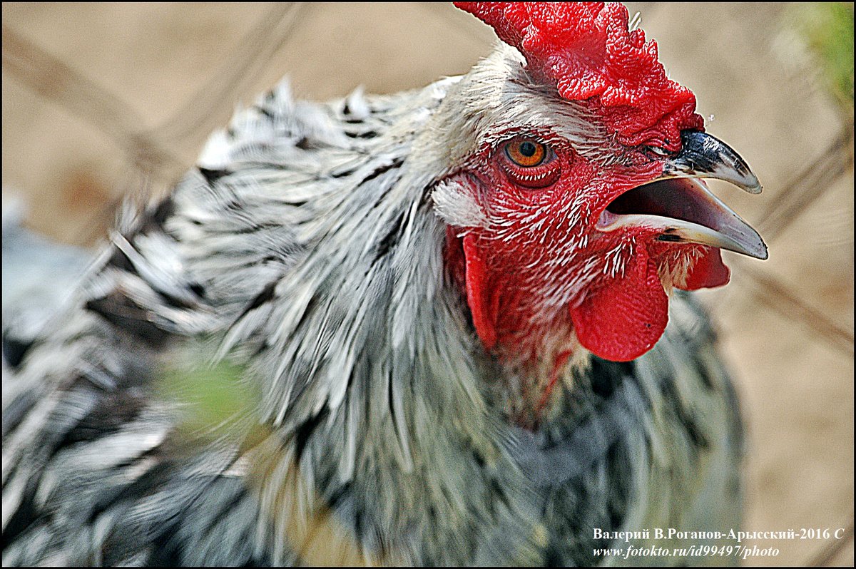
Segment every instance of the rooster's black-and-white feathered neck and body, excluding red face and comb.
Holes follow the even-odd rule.
[[[462,198],[465,156],[511,121],[591,160],[613,143],[523,63],[502,46],[324,105],[283,83],[215,134],[4,370],[3,564],[705,560],[595,552],[739,527],[739,412],[692,296],[628,361],[542,305],[526,329],[474,307],[466,228],[499,214]],[[579,298],[615,258],[544,297]],[[200,423],[175,362],[210,347],[249,403]]]

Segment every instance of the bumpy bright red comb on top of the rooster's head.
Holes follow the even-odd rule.
[[[598,98],[624,145],[681,147],[681,130],[704,129],[695,96],[666,77],[657,43],[629,31],[619,3],[455,2],[526,57],[526,69],[563,98]]]

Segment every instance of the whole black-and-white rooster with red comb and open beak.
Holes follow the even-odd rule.
[[[767,257],[702,181],[757,178],[621,4],[457,5],[492,55],[277,86],[4,367],[4,565],[696,563],[624,552],[739,527],[685,291]]]

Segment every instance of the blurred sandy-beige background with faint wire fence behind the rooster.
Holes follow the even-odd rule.
[[[764,184],[714,192],[770,246],[704,293],[746,417],[748,565],[853,566],[853,3],[628,3],[710,133]],[[155,196],[237,104],[283,75],[299,98],[466,73],[495,36],[447,4],[3,3],[3,204],[103,243],[122,197]]]

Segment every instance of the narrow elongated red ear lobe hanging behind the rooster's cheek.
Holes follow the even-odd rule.
[[[491,290],[489,271],[477,244],[478,237],[467,234],[462,245],[466,259],[467,305],[473,314],[473,326],[485,349],[496,346],[496,317],[499,293]]]

